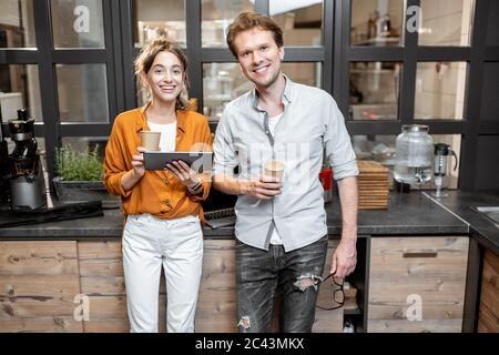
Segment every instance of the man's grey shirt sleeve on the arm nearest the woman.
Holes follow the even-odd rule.
[[[234,140],[228,128],[228,112],[224,112],[216,128],[215,142],[213,143],[214,175],[233,175],[234,169],[237,166],[237,153],[235,151]]]

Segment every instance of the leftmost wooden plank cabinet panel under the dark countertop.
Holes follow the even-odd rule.
[[[82,332],[80,294],[77,242],[0,242],[0,332]]]

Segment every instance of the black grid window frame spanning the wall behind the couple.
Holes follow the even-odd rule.
[[[286,47],[286,62],[320,62],[323,89],[332,93],[348,118],[349,62],[398,61],[403,63],[398,121],[347,121],[353,135],[396,135],[403,124],[424,123],[432,134],[461,134],[461,164],[459,187],[475,187],[478,138],[499,135],[498,122],[480,122],[480,103],[486,62],[499,61],[499,43],[486,45],[488,9],[492,0],[476,0],[470,47],[418,47],[418,33],[404,33],[404,45],[398,48],[358,48],[349,44],[350,4],[353,0],[323,1],[323,43],[320,47]],[[405,0],[405,9],[419,6],[420,0]],[[53,176],[53,154],[61,136],[106,136],[114,116],[136,105],[133,59],[134,48],[132,0],[102,0],[105,49],[54,50],[50,18],[50,0],[33,1],[37,50],[0,50],[0,64],[38,64],[43,124],[37,124],[37,135],[44,136],[48,166]],[[255,11],[269,13],[269,0],[255,0]],[[203,106],[203,63],[235,62],[228,49],[203,48],[201,42],[201,0],[185,1],[186,53],[190,59],[191,97]],[[404,14],[406,17],[406,14]],[[465,120],[414,120],[417,63],[421,61],[468,62]],[[109,87],[109,123],[63,123],[59,121],[57,63],[104,63]],[[6,129],[7,131],[7,124]],[[7,133],[6,133],[7,134]]]

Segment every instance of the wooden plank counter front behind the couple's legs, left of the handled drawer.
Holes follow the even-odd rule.
[[[237,332],[234,240],[204,243],[196,332]],[[330,241],[328,260],[335,245]],[[162,277],[160,332],[164,285]],[[0,332],[128,331],[121,241],[0,242]],[[342,331],[343,308],[317,310],[314,332]]]

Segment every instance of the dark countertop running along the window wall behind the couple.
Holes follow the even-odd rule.
[[[326,205],[327,225],[330,235],[342,232],[338,197]],[[43,223],[37,225],[0,229],[0,240],[47,239],[113,239],[120,237],[123,216],[120,210],[105,210],[103,217]],[[363,210],[358,214],[358,234],[361,235],[436,235],[468,234],[468,225],[421,194],[391,193],[388,210]],[[231,239],[233,227],[213,230],[204,227],[206,239]]]

